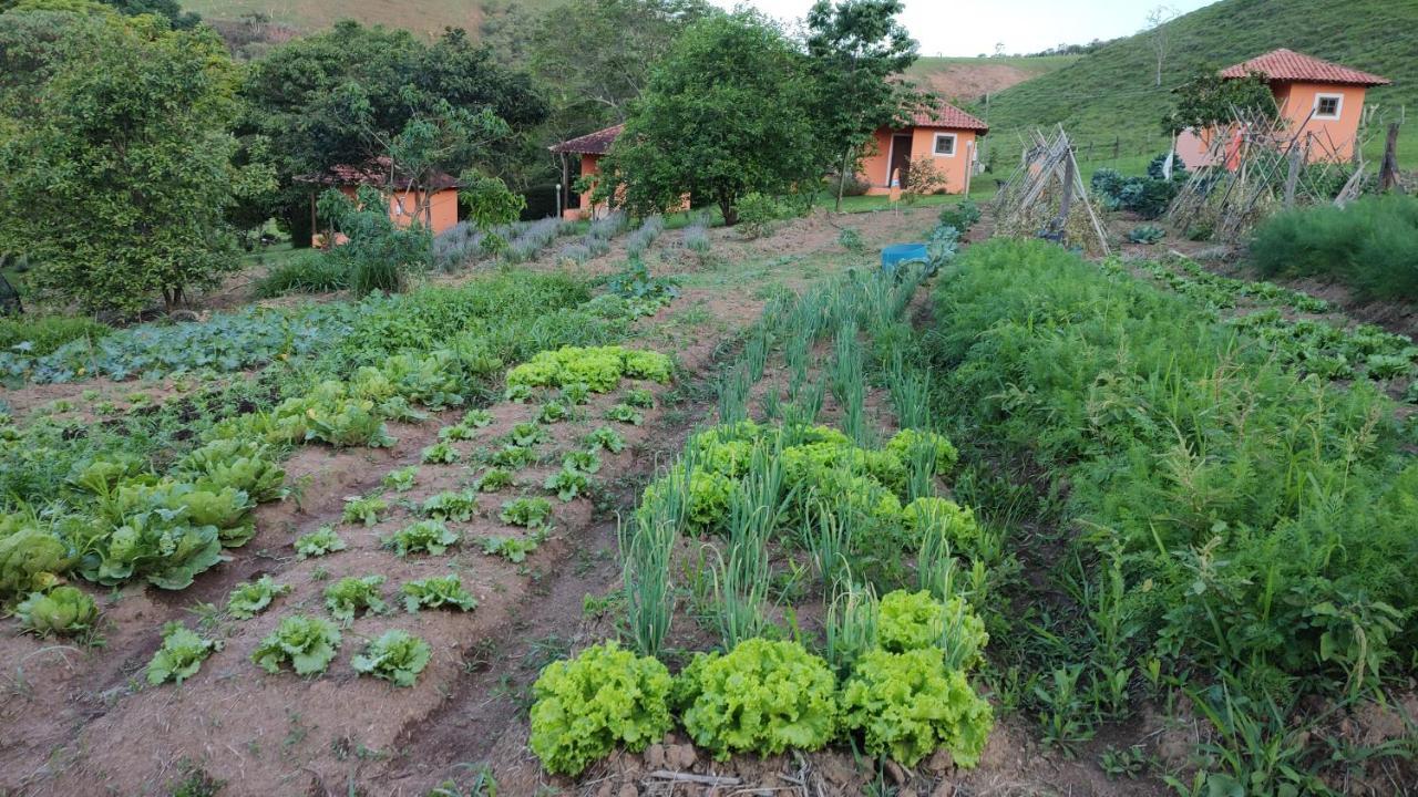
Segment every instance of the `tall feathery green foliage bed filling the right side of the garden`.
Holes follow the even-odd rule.
[[[1411,668],[1418,464],[1375,387],[1042,243],[974,247],[936,299],[940,417],[1068,485],[1122,579],[1099,640],[1272,696]]]

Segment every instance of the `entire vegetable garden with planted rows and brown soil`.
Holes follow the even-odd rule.
[[[929,269],[873,268],[900,230],[871,225],[754,254],[790,224],[675,285],[700,255],[637,230],[594,282],[533,261],[9,360],[61,397],[3,430],[4,787],[1411,781],[1405,338],[946,224]]]

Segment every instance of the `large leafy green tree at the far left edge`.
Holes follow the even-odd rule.
[[[210,30],[115,17],[69,41],[34,116],[0,140],[0,240],[40,289],[132,315],[237,267],[223,211],[261,176],[233,166],[234,85]]]

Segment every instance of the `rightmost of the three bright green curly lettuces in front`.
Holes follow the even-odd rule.
[[[940,650],[868,651],[842,689],[842,720],[864,735],[866,752],[915,766],[946,747],[956,764],[974,767],[990,736],[990,703],[964,672],[944,668]]]

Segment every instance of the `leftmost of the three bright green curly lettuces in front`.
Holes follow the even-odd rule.
[[[614,641],[556,661],[532,685],[527,745],[547,771],[576,776],[617,745],[640,752],[664,739],[672,722],[665,665]]]

